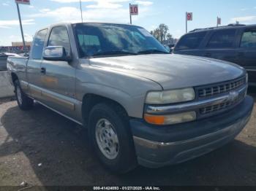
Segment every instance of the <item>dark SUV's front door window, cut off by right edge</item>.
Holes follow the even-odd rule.
[[[241,38],[240,47],[256,48],[256,28],[244,32]]]

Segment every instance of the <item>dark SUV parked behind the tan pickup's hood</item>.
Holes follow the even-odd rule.
[[[249,85],[256,86],[256,25],[195,29],[181,37],[173,53],[237,63],[248,72]]]

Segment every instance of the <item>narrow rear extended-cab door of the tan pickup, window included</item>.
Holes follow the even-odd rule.
[[[48,29],[38,31],[34,36],[34,42],[31,49],[31,55],[27,63],[27,85],[29,85],[29,95],[36,98],[38,101],[42,100],[41,96],[41,62],[42,62],[42,50],[45,45],[46,35]],[[26,85],[25,85],[26,86]]]

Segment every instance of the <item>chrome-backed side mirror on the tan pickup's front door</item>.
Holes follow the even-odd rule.
[[[59,46],[45,47],[42,58],[46,61],[71,61],[66,54],[65,48]]]

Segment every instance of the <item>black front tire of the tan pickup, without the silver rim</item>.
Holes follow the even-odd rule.
[[[113,125],[118,137],[118,154],[116,158],[111,160],[105,157],[97,144],[96,126],[102,119],[108,120]],[[89,141],[101,163],[110,171],[116,174],[124,174],[132,171],[137,166],[128,117],[120,106],[102,103],[97,104],[91,109],[89,114]]]

